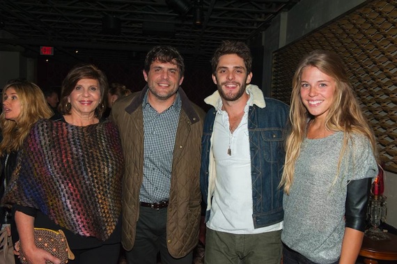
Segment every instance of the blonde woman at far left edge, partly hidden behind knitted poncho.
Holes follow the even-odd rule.
[[[30,81],[10,81],[3,88],[1,98],[3,111],[0,114],[0,198],[10,183],[17,162],[17,151],[22,148],[31,127],[40,118],[49,118],[53,114],[41,89]],[[12,215],[10,208],[0,208],[1,225],[4,224],[3,227],[8,229],[8,235],[11,235],[10,224],[13,225],[13,242],[16,242],[17,231]]]

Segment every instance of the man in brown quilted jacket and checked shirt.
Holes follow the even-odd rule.
[[[180,85],[179,52],[157,46],[146,55],[142,91],[118,99],[110,119],[125,154],[123,247],[127,262],[192,264],[201,214],[202,109]]]

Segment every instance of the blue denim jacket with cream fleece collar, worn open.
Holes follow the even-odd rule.
[[[285,159],[284,140],[286,139],[289,107],[272,98],[264,98],[258,86],[247,86],[254,104],[249,107],[248,131],[251,155],[252,202],[254,228],[270,226],[283,220],[283,190],[279,188]],[[211,201],[215,190],[215,158],[212,153],[212,130],[217,114],[220,95],[216,91],[205,98],[213,108],[204,121],[201,139],[201,193],[207,203],[205,222],[211,211]]]

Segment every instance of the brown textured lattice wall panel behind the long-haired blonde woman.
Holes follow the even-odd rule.
[[[380,159],[397,172],[397,1],[371,1],[274,52],[272,97],[290,102],[297,63],[313,49],[339,54],[377,137]]]

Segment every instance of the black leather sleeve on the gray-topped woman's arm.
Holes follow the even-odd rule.
[[[371,190],[371,178],[351,180],[346,196],[345,227],[365,231],[366,210]]]

